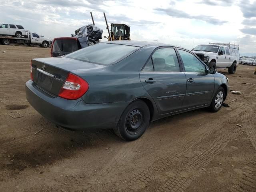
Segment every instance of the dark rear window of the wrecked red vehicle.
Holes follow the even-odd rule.
[[[76,39],[57,39],[54,41],[52,52],[68,52],[72,53],[78,50]]]

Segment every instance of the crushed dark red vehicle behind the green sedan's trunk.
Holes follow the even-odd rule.
[[[94,45],[102,38],[103,30],[93,24],[82,26],[75,30],[71,37],[54,38],[51,56],[58,57],[72,53],[81,48]]]

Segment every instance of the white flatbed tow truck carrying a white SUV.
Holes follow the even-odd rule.
[[[0,36],[0,42],[4,45],[12,44],[27,44],[27,45],[39,45],[40,47],[47,48],[50,44],[49,38],[40,37],[36,33],[26,31],[26,35],[21,38],[12,36]]]

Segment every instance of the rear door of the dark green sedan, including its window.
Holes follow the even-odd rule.
[[[186,76],[174,48],[159,48],[140,72],[140,80],[154,99],[160,114],[182,109],[186,93]]]

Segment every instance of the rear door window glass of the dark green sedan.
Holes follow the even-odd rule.
[[[154,71],[180,72],[180,65],[174,48],[160,48],[152,55]]]

